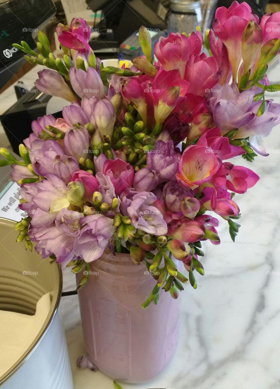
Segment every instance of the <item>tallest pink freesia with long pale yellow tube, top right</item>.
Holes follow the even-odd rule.
[[[236,80],[237,70],[242,60],[242,33],[250,20],[258,23],[259,18],[252,14],[247,3],[238,4],[237,1],[234,1],[228,9],[219,7],[216,10],[212,24],[215,35],[222,40],[228,50],[234,80]]]

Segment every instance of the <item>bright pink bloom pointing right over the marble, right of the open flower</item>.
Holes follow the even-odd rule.
[[[244,166],[234,166],[229,162],[224,163],[228,168],[226,188],[236,193],[245,193],[259,180],[259,176]]]

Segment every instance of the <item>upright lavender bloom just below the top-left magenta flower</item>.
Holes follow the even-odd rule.
[[[98,98],[104,95],[104,85],[98,72],[89,67],[85,72],[82,69],[77,69],[72,66],[69,69],[70,84],[77,95],[82,97],[93,97]]]

